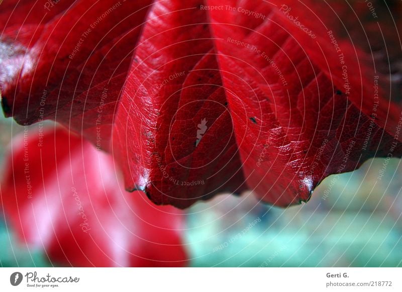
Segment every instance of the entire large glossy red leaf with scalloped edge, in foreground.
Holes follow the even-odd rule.
[[[3,108],[83,133],[157,204],[245,187],[307,201],[330,174],[400,157],[401,6],[373,3],[5,1]]]

